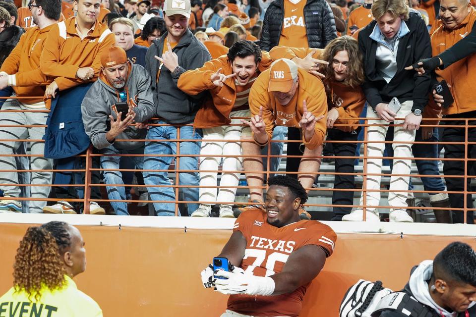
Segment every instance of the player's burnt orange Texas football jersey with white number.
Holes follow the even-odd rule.
[[[320,246],[330,257],[337,240],[334,230],[319,221],[301,220],[278,228],[267,222],[266,212],[258,209],[241,213],[233,231],[237,230],[246,239],[240,267],[256,276],[281,272],[289,256],[306,245]],[[309,284],[277,296],[230,295],[228,309],[251,316],[297,317]]]

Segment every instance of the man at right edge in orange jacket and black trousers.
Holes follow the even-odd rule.
[[[449,49],[457,42],[465,38],[473,28],[476,22],[476,10],[471,6],[468,0],[441,0],[440,17],[442,25],[436,29],[431,36],[432,55],[436,56]],[[453,96],[453,104],[443,107],[443,114],[447,119],[451,118],[474,118],[476,116],[476,100],[471,93],[474,90],[472,78],[476,72],[476,56],[469,55],[458,60],[451,66],[444,68],[439,66],[435,70],[437,80],[446,80]],[[438,104],[444,102],[444,99],[436,91],[433,91],[434,100]],[[468,152],[465,151],[464,144],[448,144],[448,142],[469,142],[476,141],[476,129],[469,128],[468,135],[464,128],[465,121],[450,120],[444,121],[442,142],[445,147],[445,159],[464,159],[476,158],[475,145],[468,145]],[[475,121],[470,120],[469,125],[475,125]],[[451,127],[453,126],[453,127]],[[454,126],[461,126],[457,128]],[[465,175],[466,162],[460,160],[445,160],[443,164],[443,173],[446,180],[446,187],[449,192],[463,192],[465,190],[465,179],[454,178],[449,175]],[[468,162],[468,174],[475,175],[475,161]],[[467,180],[467,187],[470,187],[471,178]],[[448,194],[451,208],[464,208],[463,194]],[[473,208],[471,194],[466,197],[467,208]],[[468,212],[467,223],[474,223],[473,211]],[[453,211],[453,222],[464,222],[463,212]]]

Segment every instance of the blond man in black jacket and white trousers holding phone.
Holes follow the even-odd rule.
[[[358,45],[365,69],[362,88],[370,105],[366,117],[376,119],[368,121],[372,126],[368,127],[367,140],[382,143],[371,143],[367,147],[367,157],[379,159],[367,159],[367,173],[376,175],[367,176],[364,184],[367,190],[380,189],[381,176],[377,175],[382,172],[387,123],[398,124],[394,129],[393,148],[394,156],[401,159],[394,160],[392,171],[400,176],[390,179],[390,221],[413,222],[406,212],[408,194],[400,191],[408,190],[413,157],[410,142],[415,141],[415,131],[428,102],[430,76],[418,76],[404,67],[431,55],[430,38],[424,21],[418,14],[409,12],[404,0],[375,0],[371,11],[375,21],[359,32]],[[380,192],[362,192],[359,205],[378,206],[379,202]],[[375,207],[358,208],[342,220],[362,221],[364,210],[366,221],[380,221]]]

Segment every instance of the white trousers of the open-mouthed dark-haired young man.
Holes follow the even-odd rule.
[[[232,111],[231,117],[245,117],[247,110]],[[232,119],[232,124],[240,124],[239,119]],[[224,125],[214,128],[206,128],[203,130],[202,147],[200,155],[200,202],[227,202],[232,204],[235,202],[236,188],[227,188],[228,186],[238,186],[239,174],[241,173],[242,158],[236,157],[241,155],[241,145],[239,142],[241,136],[241,126]],[[226,140],[223,142],[207,141],[207,140]],[[217,155],[227,155],[223,158],[222,170],[236,172],[222,172],[220,180],[220,188],[203,188],[203,186],[217,186],[217,171],[222,160]],[[202,172],[203,170],[203,172]]]

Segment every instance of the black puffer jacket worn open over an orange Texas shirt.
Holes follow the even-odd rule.
[[[283,20],[284,0],[274,0],[264,15],[261,50],[269,52],[278,45]],[[337,38],[334,14],[325,0],[307,0],[304,6],[304,22],[310,48],[323,49],[330,41]]]

